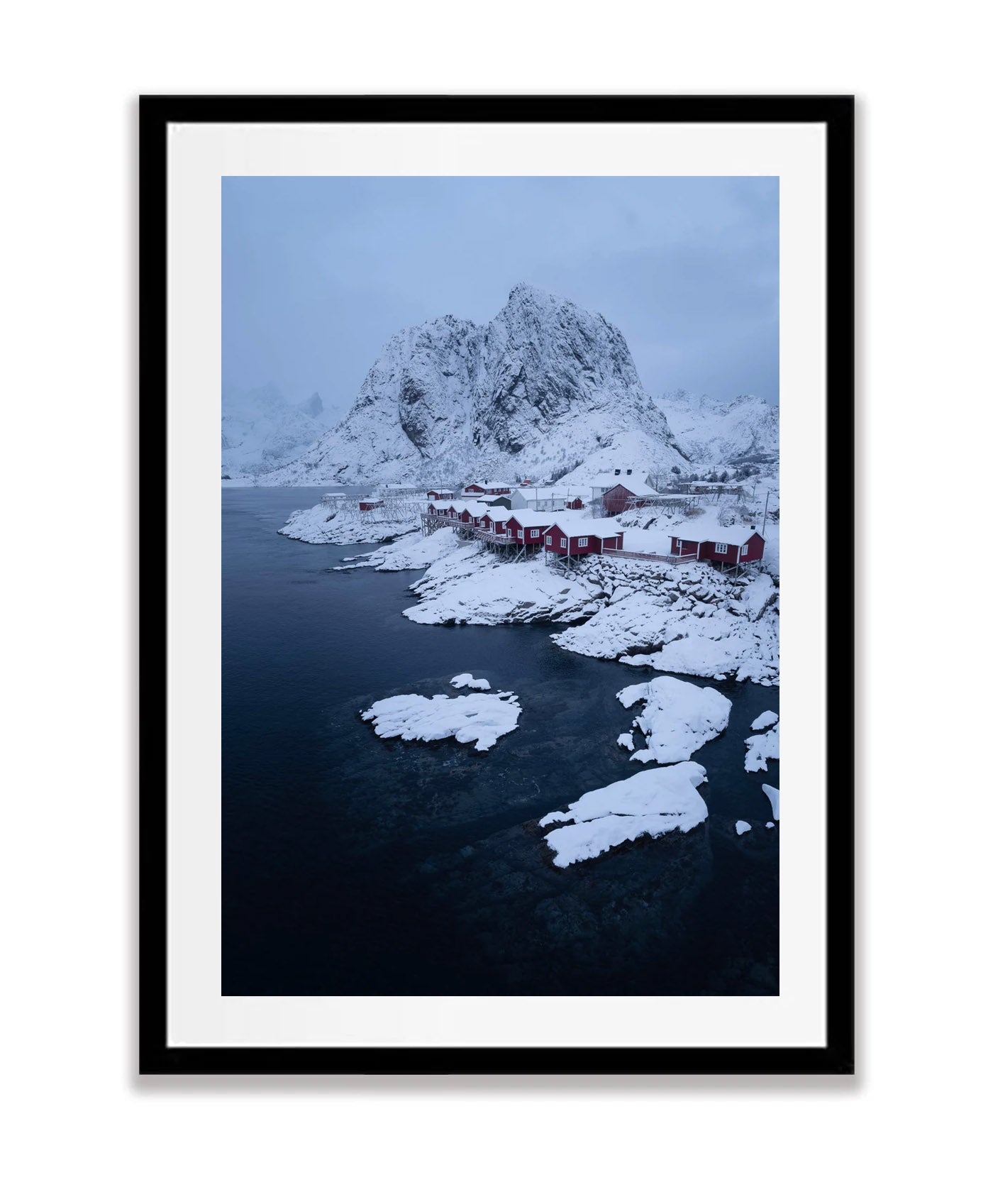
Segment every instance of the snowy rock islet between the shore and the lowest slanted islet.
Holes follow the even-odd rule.
[[[669,675],[626,687],[617,699],[625,708],[645,703],[634,721],[645,735],[645,749],[632,753],[632,762],[685,762],[727,728],[731,715],[731,700],[720,691]]]

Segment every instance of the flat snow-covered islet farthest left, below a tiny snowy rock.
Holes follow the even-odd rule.
[[[454,737],[464,745],[476,741],[485,752],[499,737],[517,727],[521,707],[513,691],[495,695],[392,695],[377,700],[362,713],[377,737],[405,741],[437,741]]]

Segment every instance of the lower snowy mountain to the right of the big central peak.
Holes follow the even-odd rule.
[[[679,446],[695,464],[772,462],[780,455],[780,408],[750,393],[718,402],[677,389],[659,398]]]

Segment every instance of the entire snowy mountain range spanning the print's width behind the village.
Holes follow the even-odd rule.
[[[578,483],[616,467],[685,472],[778,452],[777,408],[682,390],[652,401],[602,315],[523,284],[484,325],[446,315],[398,331],[334,429],[319,409],[278,397],[257,390],[225,404],[230,474],[244,468],[267,485],[470,474]]]

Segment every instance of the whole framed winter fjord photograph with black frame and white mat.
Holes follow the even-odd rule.
[[[854,1070],[852,144],[142,99],[142,1073]]]

